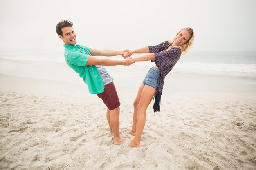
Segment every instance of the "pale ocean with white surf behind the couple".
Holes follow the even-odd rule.
[[[137,57],[138,54],[132,55]],[[121,56],[109,57],[115,60],[123,60]],[[29,67],[27,63],[34,63],[39,69],[42,64],[52,66],[45,68],[49,72],[46,75],[36,72],[36,69],[21,71],[23,67]],[[13,65],[14,64],[14,65]],[[21,64],[21,65],[19,65]],[[53,66],[54,65],[54,66]],[[136,62],[132,66],[107,66],[115,76],[123,76],[124,71],[129,74],[126,76],[145,75],[154,64],[148,62]],[[56,69],[56,67],[58,69]],[[20,69],[18,69],[20,68]],[[52,69],[51,71],[51,68]],[[42,49],[1,49],[0,50],[0,73],[7,75],[16,75],[21,77],[54,79],[72,82],[65,75],[53,76],[54,71],[65,73],[63,68],[68,68],[65,64],[63,51],[42,50]],[[42,69],[42,68],[41,68]],[[71,70],[71,69],[70,69]],[[31,73],[34,72],[34,73]],[[200,75],[220,75],[231,77],[256,77],[256,51],[246,52],[188,52],[180,57],[180,60],[174,66],[172,73],[191,73]],[[61,78],[60,78],[61,77]],[[71,76],[70,76],[71,77]],[[74,82],[74,81],[73,81]]]

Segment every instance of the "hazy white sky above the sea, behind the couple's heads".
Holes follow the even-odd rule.
[[[55,27],[74,22],[78,44],[137,49],[195,31],[192,51],[256,51],[256,0],[0,0],[1,49],[63,50]]]

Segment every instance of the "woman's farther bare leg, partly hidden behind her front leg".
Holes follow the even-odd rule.
[[[137,92],[137,96],[133,102],[133,123],[132,123],[132,130],[129,132],[131,135],[135,135],[135,132],[136,132],[136,124],[137,124],[137,107],[139,105],[139,100],[140,100],[140,97],[141,97],[141,93],[142,93],[142,90],[144,88],[144,84],[141,83],[141,85],[139,86],[139,90]]]

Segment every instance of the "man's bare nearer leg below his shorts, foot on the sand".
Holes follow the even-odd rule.
[[[115,145],[123,144],[125,138],[122,138],[119,134],[119,112],[120,108],[117,107],[113,110],[110,110],[110,126],[113,130],[114,141]]]

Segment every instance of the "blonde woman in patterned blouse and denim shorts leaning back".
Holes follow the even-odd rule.
[[[141,83],[135,101],[133,103],[133,124],[129,132],[135,135],[129,144],[131,148],[139,147],[141,134],[145,126],[146,110],[155,95],[154,112],[160,110],[160,99],[164,86],[164,77],[171,71],[173,66],[180,59],[181,53],[186,53],[194,41],[194,32],[191,28],[181,29],[173,41],[165,41],[157,46],[146,46],[141,49],[131,50],[130,53],[149,53],[141,57],[133,58],[135,62],[148,61],[155,62],[155,66],[150,68],[145,79]],[[129,52],[122,53],[126,58]]]

